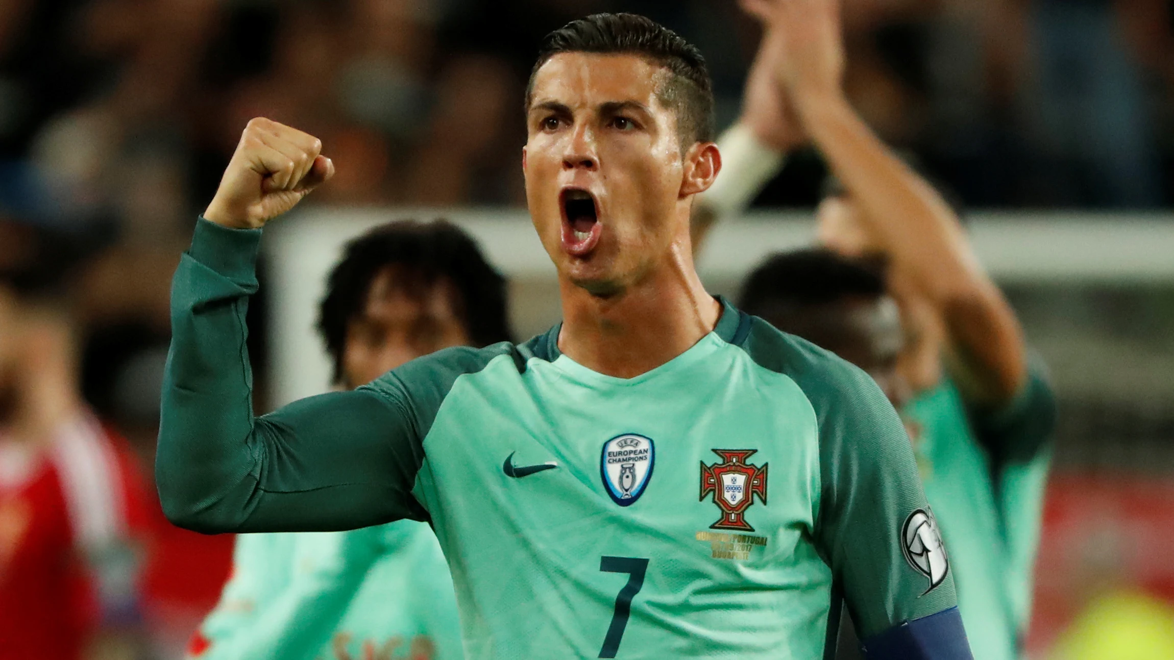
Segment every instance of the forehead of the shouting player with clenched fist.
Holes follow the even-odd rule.
[[[636,101],[661,107],[656,93],[668,75],[668,69],[641,55],[559,53],[534,74],[529,102],[555,101],[575,108]]]

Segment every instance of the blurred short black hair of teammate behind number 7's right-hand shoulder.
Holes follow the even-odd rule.
[[[839,302],[876,300],[886,293],[880,258],[850,259],[822,247],[780,252],[756,267],[738,297],[738,307],[767,319]]]

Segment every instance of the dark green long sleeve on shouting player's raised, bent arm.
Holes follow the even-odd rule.
[[[426,519],[411,495],[424,453],[403,388],[324,394],[254,416],[244,315],[259,241],[261,231],[201,218],[176,270],[155,461],[163,511],[208,533]]]

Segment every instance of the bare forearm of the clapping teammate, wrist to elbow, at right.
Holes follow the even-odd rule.
[[[838,95],[799,103],[804,127],[859,206],[859,222],[940,314],[958,366],[980,401],[1013,395],[1024,380],[1023,336],[1001,292],[940,195],[897,158]]]

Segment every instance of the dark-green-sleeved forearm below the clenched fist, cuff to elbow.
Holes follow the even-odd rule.
[[[200,531],[235,528],[225,490],[256,483],[244,315],[259,240],[201,219],[171,284],[155,478],[168,518]]]

